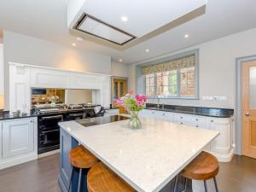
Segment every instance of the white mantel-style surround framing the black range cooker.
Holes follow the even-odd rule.
[[[90,89],[93,102],[108,107],[111,81],[106,74],[79,73],[62,69],[9,63],[9,110],[26,113],[31,108],[32,88]]]

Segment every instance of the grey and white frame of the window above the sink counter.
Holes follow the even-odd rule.
[[[155,63],[172,61],[176,59],[180,59],[185,56],[195,55],[195,93],[194,96],[181,96],[181,73],[180,69],[177,69],[177,96],[148,96],[149,99],[199,99],[199,49],[190,50],[187,52],[183,52],[177,55],[166,56],[164,58],[159,58],[154,61],[149,61],[147,63],[143,63],[137,66],[137,93],[146,95],[146,78],[141,73],[142,67],[147,67],[154,65]],[[154,73],[154,84],[156,85],[154,88],[155,94],[157,94],[157,73]]]

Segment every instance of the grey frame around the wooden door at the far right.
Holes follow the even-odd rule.
[[[242,154],[242,63],[256,60],[256,55],[236,58],[236,108],[235,108],[235,142],[236,154]]]

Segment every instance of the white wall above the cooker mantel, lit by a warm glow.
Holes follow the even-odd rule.
[[[9,103],[9,61],[80,72],[111,74],[111,57],[3,31],[5,107]]]

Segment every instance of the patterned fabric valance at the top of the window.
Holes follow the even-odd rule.
[[[161,73],[166,71],[172,71],[178,68],[194,67],[195,55],[189,55],[177,60],[166,61],[163,63],[155,64],[142,68],[143,75],[152,73]]]

